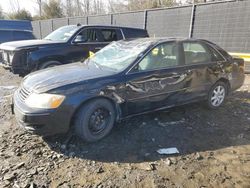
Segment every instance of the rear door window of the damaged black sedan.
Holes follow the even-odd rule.
[[[211,62],[213,55],[202,44],[197,42],[184,42],[184,56],[186,64]]]

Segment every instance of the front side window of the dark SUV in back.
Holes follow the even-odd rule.
[[[80,32],[74,42],[81,43],[81,42],[97,42],[97,34],[94,29],[84,29],[82,32]]]

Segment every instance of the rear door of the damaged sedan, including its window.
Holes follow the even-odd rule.
[[[185,99],[199,99],[207,95],[218,76],[223,73],[225,59],[203,42],[184,41],[182,48],[186,70],[190,73]]]

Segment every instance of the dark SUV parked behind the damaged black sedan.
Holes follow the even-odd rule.
[[[42,40],[10,42],[0,45],[3,64],[14,74],[25,75],[56,65],[84,60],[112,41],[148,37],[143,29],[116,26],[61,27]]]

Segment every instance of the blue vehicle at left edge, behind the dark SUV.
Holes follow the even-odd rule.
[[[10,41],[35,39],[30,21],[0,20],[0,44]],[[2,52],[0,51],[0,62]]]

